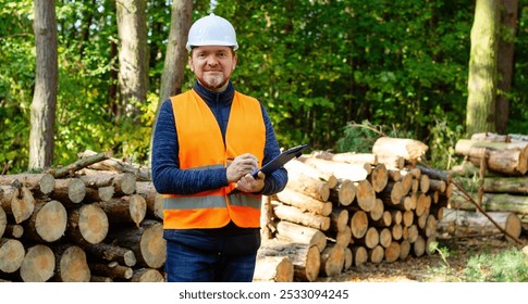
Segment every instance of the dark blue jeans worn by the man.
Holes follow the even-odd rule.
[[[165,231],[165,236],[170,231]],[[250,282],[260,235],[167,238],[169,282]]]

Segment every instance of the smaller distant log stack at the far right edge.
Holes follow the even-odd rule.
[[[465,160],[454,168],[454,180],[467,191],[454,191],[450,205],[475,211],[477,204],[489,213],[512,213],[528,229],[528,136],[475,134],[458,140],[455,152]],[[468,195],[476,204],[468,202]],[[502,217],[503,221],[511,218]],[[521,228],[517,220],[507,223],[518,236]]]

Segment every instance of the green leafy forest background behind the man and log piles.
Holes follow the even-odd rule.
[[[241,46],[232,80],[263,103],[281,147],[309,142],[312,149],[368,152],[369,140],[384,132],[423,141],[428,161],[447,169],[455,164],[456,141],[468,136],[470,34],[478,1],[191,1],[191,16],[195,21],[213,11],[232,22]],[[120,81],[118,8],[123,2],[139,3],[144,11],[142,99],[127,98]],[[528,0],[515,2],[515,31],[499,30],[515,49],[506,59],[513,66],[511,87],[498,90],[509,106],[502,134],[528,129]],[[53,166],[74,162],[85,150],[112,151],[148,166],[163,100],[172,5],[54,1]],[[37,76],[34,1],[0,0],[0,172],[21,173],[29,166]],[[191,88],[188,68],[181,76],[179,89]]]

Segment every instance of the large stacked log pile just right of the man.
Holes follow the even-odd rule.
[[[426,150],[419,141],[381,138],[376,153],[315,151],[291,161],[286,188],[265,202],[269,239],[259,261],[288,256],[293,275],[281,279],[316,281],[365,263],[431,254],[453,186],[446,173],[418,165]],[[286,244],[303,250],[292,254]]]

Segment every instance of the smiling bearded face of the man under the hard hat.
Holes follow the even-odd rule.
[[[230,47],[204,46],[193,49],[188,65],[202,86],[212,91],[222,91],[235,69],[236,61]]]

